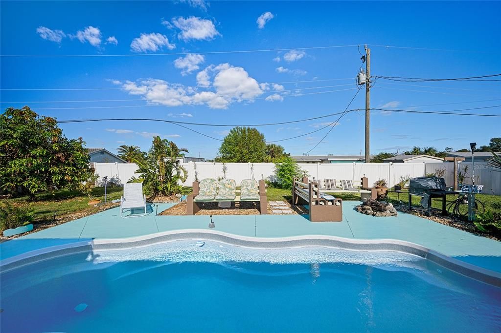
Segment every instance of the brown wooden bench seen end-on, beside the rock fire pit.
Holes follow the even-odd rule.
[[[302,180],[302,181],[301,181]],[[294,179],[292,187],[292,203],[308,204],[310,221],[341,222],[343,220],[343,200],[328,200],[322,197],[319,184],[309,181],[307,177]]]

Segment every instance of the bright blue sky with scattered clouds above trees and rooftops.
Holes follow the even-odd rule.
[[[361,52],[364,43],[426,48],[370,46],[373,75],[465,77],[501,72],[497,1],[2,1],[0,6],[2,55],[99,55],[2,57],[2,109],[29,105],[59,120],[142,117],[253,124],[343,111],[356,92],[354,77],[362,64],[357,47],[308,47],[361,44]],[[290,50],[202,53],[281,48]],[[189,55],[103,56],[156,53]],[[42,88],[76,90],[5,90]],[[501,82],[378,79],[371,106],[482,107],[501,104],[500,92]],[[441,103],[457,104],[420,106]],[[350,108],[364,107],[361,90]],[[501,108],[467,112],[501,114]],[[335,119],[259,129],[268,141],[275,141]],[[371,153],[413,145],[459,149],[471,141],[486,144],[490,137],[501,136],[498,119],[372,111]],[[363,111],[348,113],[310,154],[359,154],[361,149],[363,153],[364,121]],[[220,144],[162,122],[61,127],[68,137],[82,136],[88,147],[111,151],[120,144],[146,150],[154,133],[188,148],[192,156],[212,158]],[[219,139],[229,129],[188,127]],[[301,155],[329,129],[277,143]]]

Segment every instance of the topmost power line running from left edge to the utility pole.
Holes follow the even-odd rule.
[[[5,57],[110,57],[110,56],[158,56],[158,55],[186,55],[186,54],[222,54],[222,53],[254,53],[254,52],[276,52],[290,51],[293,49],[324,49],[339,47],[355,47],[354,45],[330,45],[330,46],[312,46],[312,47],[292,47],[292,48],[269,48],[269,49],[248,49],[232,51],[201,51],[201,52],[174,52],[174,53],[129,53],[129,54],[0,54]]]

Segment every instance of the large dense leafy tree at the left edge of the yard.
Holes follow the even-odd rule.
[[[9,107],[0,115],[0,185],[8,192],[35,193],[76,188],[90,178],[83,140],[68,139],[55,118],[28,106]]]

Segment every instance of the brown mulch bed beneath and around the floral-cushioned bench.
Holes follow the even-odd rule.
[[[307,214],[308,210],[303,206],[291,205],[290,202],[284,201],[287,206],[292,210],[293,214]],[[270,204],[268,204],[268,213],[279,215],[272,212]],[[168,209],[165,209],[159,215],[186,215],[186,202],[181,202]],[[259,215],[259,202],[231,202],[231,207],[221,208],[217,202],[203,202],[201,209],[195,215]]]

